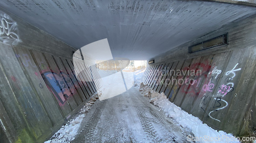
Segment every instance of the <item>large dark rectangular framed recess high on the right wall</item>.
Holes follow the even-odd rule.
[[[189,46],[188,52],[193,53],[193,52],[214,48],[214,47],[219,47],[223,45],[228,45],[228,33],[212,38],[210,40],[203,41],[196,45]]]

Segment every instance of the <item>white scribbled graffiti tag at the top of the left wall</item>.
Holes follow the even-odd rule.
[[[0,11],[0,41],[11,45],[16,45],[20,41],[17,22],[2,11]]]

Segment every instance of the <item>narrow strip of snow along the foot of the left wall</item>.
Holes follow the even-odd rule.
[[[66,123],[66,125],[63,125],[48,141],[45,141],[45,143],[55,143],[55,142],[71,142],[75,139],[75,136],[77,134],[77,131],[80,127],[80,124],[84,117],[86,117],[86,114],[91,109],[91,106],[94,104],[94,102],[98,99],[98,95],[96,94],[94,97],[91,98],[90,101],[88,101],[79,111],[79,116],[75,119],[72,119]]]

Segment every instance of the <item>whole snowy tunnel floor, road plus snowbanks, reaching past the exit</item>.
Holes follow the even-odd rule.
[[[142,83],[139,89],[143,71],[100,71],[100,74],[103,86],[98,91],[99,97],[92,97],[77,117],[62,126],[47,143],[239,142],[191,139],[233,136],[203,124],[169,102],[163,93],[159,94]]]

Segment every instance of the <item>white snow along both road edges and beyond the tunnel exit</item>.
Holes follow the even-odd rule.
[[[188,114],[186,111],[170,102],[164,93],[159,94],[148,88],[147,85],[141,83],[143,80],[144,71],[145,69],[137,70],[135,72],[99,71],[102,77],[103,85],[102,88],[98,90],[99,96],[96,95],[95,97],[91,98],[91,100],[86,103],[83,108],[80,109],[79,115],[76,118],[67,122],[66,125],[63,125],[60,130],[57,131],[51,137],[51,139],[45,143],[72,141],[77,134],[80,123],[86,116],[86,113],[89,112],[96,99],[100,98],[100,100],[104,100],[117,96],[125,92],[126,89],[129,90],[133,86],[138,87],[144,96],[151,98],[150,102],[160,107],[165,112],[167,117],[173,118],[182,127],[190,129],[196,138],[188,137],[188,141],[197,140],[196,142],[239,142],[239,140],[232,136],[232,134],[225,133],[224,131],[218,132],[206,124],[203,124],[200,119]],[[254,143],[256,142],[254,141]]]

